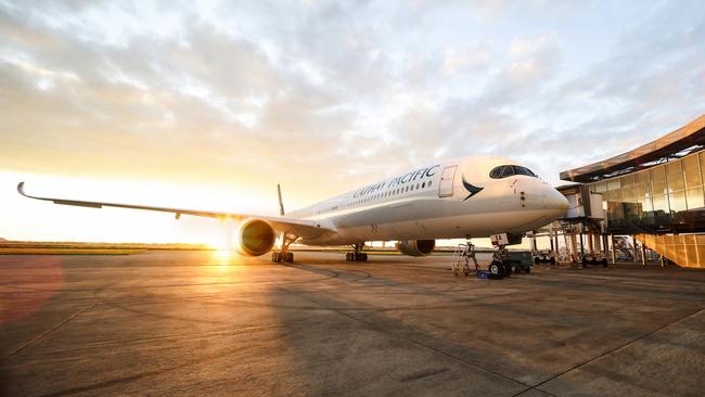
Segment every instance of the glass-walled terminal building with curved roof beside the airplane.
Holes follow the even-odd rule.
[[[590,196],[601,195],[604,219],[590,227],[585,216],[582,223],[602,236],[595,245],[605,254],[607,236],[614,258],[614,235],[631,235],[644,262],[649,248],[676,265],[705,268],[705,115],[627,153],[563,171],[561,179],[579,183],[559,190],[582,191],[578,201],[588,207]]]

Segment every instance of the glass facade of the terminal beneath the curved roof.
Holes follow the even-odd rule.
[[[657,229],[705,207],[705,151],[638,172],[590,184],[602,193],[607,228]]]

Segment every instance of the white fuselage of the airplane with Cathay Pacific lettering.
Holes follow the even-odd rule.
[[[536,176],[490,177],[503,165],[518,163],[492,156],[436,163],[286,215],[336,230],[303,236],[302,243],[343,245],[521,234],[565,214],[567,200]],[[511,169],[520,168],[526,169]]]

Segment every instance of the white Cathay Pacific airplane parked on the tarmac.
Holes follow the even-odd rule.
[[[409,256],[425,256],[436,239],[487,238],[502,233],[504,244],[521,243],[530,230],[561,218],[568,201],[517,162],[498,156],[470,156],[413,168],[341,195],[284,214],[278,185],[280,216],[166,208],[133,204],[88,202],[20,194],[55,204],[92,208],[118,207],[233,219],[240,222],[239,253],[292,262],[292,243],[351,245],[347,260],[364,261],[364,242],[398,241]],[[281,243],[274,248],[277,239]],[[502,271],[502,270],[499,270]]]

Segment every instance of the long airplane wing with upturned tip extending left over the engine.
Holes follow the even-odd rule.
[[[220,213],[220,212],[185,209],[185,208],[155,207],[149,205],[88,202],[88,201],[80,201],[80,200],[67,200],[67,198],[55,198],[55,197],[40,197],[40,196],[34,196],[25,193],[25,182],[20,182],[20,184],[17,184],[17,192],[20,192],[20,194],[24,195],[25,197],[48,201],[54,204],[73,205],[73,206],[90,207],[90,208],[116,207],[116,208],[156,210],[162,213],[176,214],[177,219],[181,217],[181,215],[218,218],[222,220],[233,219],[235,221],[256,218],[256,219],[266,220],[277,231],[289,232],[302,238],[309,238],[309,239],[319,236],[325,232],[335,231],[335,228],[332,225],[322,220],[306,220],[306,219],[289,218],[289,217],[281,217],[281,216],[258,216],[258,215],[240,214],[240,213]]]

